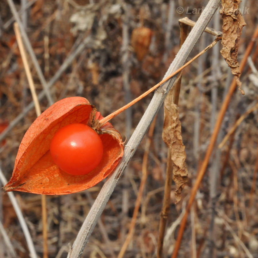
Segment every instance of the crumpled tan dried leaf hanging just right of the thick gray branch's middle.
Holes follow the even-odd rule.
[[[173,102],[173,91],[169,91],[164,101],[163,141],[171,152],[173,161],[173,180],[176,184],[175,199],[181,199],[181,191],[188,181],[188,171],[185,164],[186,154],[181,135],[181,122],[177,105]]]

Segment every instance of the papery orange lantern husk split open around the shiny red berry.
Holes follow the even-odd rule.
[[[19,146],[13,174],[3,187],[6,192],[21,191],[45,195],[65,195],[88,189],[106,178],[124,153],[120,133],[106,122],[89,101],[82,97],[62,99],[44,111],[30,126]],[[103,143],[103,157],[90,173],[74,176],[62,171],[50,155],[50,141],[67,124],[92,127]]]

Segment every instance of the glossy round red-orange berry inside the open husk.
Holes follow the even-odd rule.
[[[71,175],[91,172],[103,155],[102,141],[85,124],[69,124],[60,128],[51,140],[50,154],[54,163]]]

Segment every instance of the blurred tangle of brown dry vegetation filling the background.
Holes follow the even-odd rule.
[[[187,6],[190,12],[193,8],[202,8],[207,1],[184,1],[183,3],[176,1],[173,7],[172,26],[167,30],[169,2],[172,1],[109,0],[90,1],[90,3],[79,0],[36,1],[28,9],[25,15],[27,22],[24,24],[47,82],[77,46],[83,44],[83,39],[89,38],[79,55],[51,87],[53,100],[82,96],[95,105],[103,116],[106,116],[122,107],[128,99],[137,97],[159,82],[179,49],[178,19],[187,16],[196,21],[200,14],[186,15]],[[15,1],[15,4],[17,9],[21,8],[20,1]],[[185,8],[181,15],[176,12],[176,8],[180,5]],[[257,1],[245,1],[244,9],[245,6],[249,9],[247,13],[243,13],[247,26],[243,29],[240,39],[240,60],[257,26]],[[124,53],[122,26],[125,23],[125,12],[128,14],[129,42],[134,28],[141,26],[149,28],[152,36],[149,49],[147,44],[141,50],[144,51],[144,48],[145,50],[147,48],[144,57],[139,58],[139,55],[134,53],[132,45],[135,45],[135,42],[129,44],[129,55],[126,59],[129,89],[123,86],[122,78],[125,73],[122,63]],[[0,123],[4,128],[24,112],[32,97],[13,26],[12,24],[5,26],[12,18],[6,0],[0,2],[0,15]],[[216,29],[222,30],[222,20],[220,19],[219,22],[219,27]],[[214,28],[215,24],[216,22],[212,20],[209,26]],[[167,36],[169,36],[168,40],[166,40]],[[204,49],[213,39],[213,36],[203,34],[191,57]],[[218,55],[221,49],[220,43],[217,46],[218,48],[209,50],[182,73],[179,118],[187,155],[189,182],[183,189],[182,199],[177,205],[174,204],[175,186],[172,185],[163,257],[170,257],[173,251],[180,224],[176,220],[187,203],[191,186],[210,140],[217,111],[232,80],[230,69],[223,57]],[[257,43],[250,56],[254,67],[257,67]],[[218,62],[215,67],[214,60]],[[31,61],[30,67],[36,91],[40,93],[42,86]],[[257,70],[250,68],[249,63],[245,66],[241,81],[245,95],[242,96],[239,91],[234,93],[221,126],[219,142],[235,121],[257,103],[258,74]],[[128,113],[126,115],[124,112],[111,121],[124,140],[126,134],[127,138],[130,137],[151,97],[152,94],[131,107],[128,112],[129,117]],[[40,101],[40,106],[41,111],[49,106],[46,97]],[[5,142],[1,143],[1,169],[7,179],[11,177],[19,143],[35,118],[36,112],[31,109],[4,137]],[[213,257],[247,257],[240,240],[253,257],[258,257],[257,190],[255,188],[255,174],[258,169],[257,127],[257,109],[255,109],[245,117],[224,147],[214,152],[197,193],[191,216],[187,221],[178,257],[212,257],[210,252],[214,253]],[[162,141],[162,128],[163,110],[158,114],[154,134],[150,138],[146,167],[148,177],[134,236],[124,257],[156,257],[167,158],[167,148]],[[144,169],[142,159],[146,151],[147,139],[145,136],[142,140],[128,165],[126,175],[119,181],[101,215],[104,230],[101,230],[97,224],[82,257],[112,257],[110,250],[113,250],[115,257],[119,253],[135,206]],[[212,174],[218,175],[216,185],[213,185]],[[68,243],[73,243],[91,207],[91,198],[96,198],[102,185],[103,182],[100,182],[89,190],[66,196],[47,196],[49,258],[56,257],[60,249],[63,253],[59,253],[58,257],[67,256]],[[211,189],[215,190],[211,191]],[[212,202],[210,195],[215,196]],[[15,196],[30,229],[36,252],[39,257],[42,257],[41,197],[19,192],[16,192]],[[123,201],[123,196],[127,201]],[[7,194],[2,191],[0,192],[0,219],[17,257],[28,257],[27,244],[20,224]],[[225,221],[237,238],[225,226]],[[213,228],[212,224],[214,224]],[[109,239],[104,237],[105,233]],[[7,247],[2,240],[0,242],[0,258],[10,257]],[[196,256],[194,250],[197,252]]]

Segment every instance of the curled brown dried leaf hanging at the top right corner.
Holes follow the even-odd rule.
[[[240,0],[222,0],[222,9],[220,14],[222,16],[222,49],[220,53],[224,57],[232,74],[236,79],[236,84],[241,94],[245,92],[241,89],[241,82],[239,80],[241,72],[239,70],[239,63],[237,61],[237,53],[239,47],[239,39],[242,33],[243,26],[246,25],[245,20],[238,10]]]

